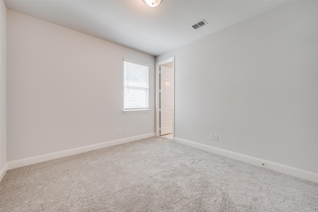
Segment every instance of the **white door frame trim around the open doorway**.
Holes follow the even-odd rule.
[[[160,120],[160,113],[159,113],[159,70],[160,66],[166,63],[172,62],[172,140],[174,140],[174,56],[167,58],[165,60],[159,61],[156,63],[156,136],[160,135],[159,131],[159,120]]]

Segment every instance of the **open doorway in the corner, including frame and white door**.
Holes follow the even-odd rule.
[[[156,135],[174,138],[174,57],[156,63]]]

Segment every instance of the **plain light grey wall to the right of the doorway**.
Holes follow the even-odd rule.
[[[175,56],[175,137],[318,173],[317,11],[291,1],[158,56]]]

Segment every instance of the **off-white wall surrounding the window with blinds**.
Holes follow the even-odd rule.
[[[122,112],[124,58],[150,64],[150,112]],[[8,162],[154,133],[154,69],[153,56],[8,10]]]

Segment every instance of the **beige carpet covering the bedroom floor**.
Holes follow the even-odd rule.
[[[1,212],[318,212],[318,184],[153,137],[7,172]]]

